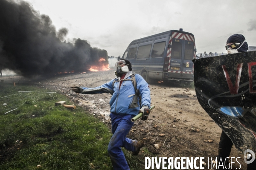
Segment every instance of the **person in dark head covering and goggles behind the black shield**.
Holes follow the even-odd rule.
[[[245,38],[243,35],[234,34],[227,39],[226,49],[228,54],[244,52],[248,50],[248,44],[247,42],[245,42]],[[227,134],[222,131],[218,147],[218,163],[220,163],[221,159],[222,163],[224,164],[225,159],[230,156],[232,146],[233,142],[227,136]],[[256,161],[253,161],[253,163],[251,164],[247,164],[247,170],[256,170]]]

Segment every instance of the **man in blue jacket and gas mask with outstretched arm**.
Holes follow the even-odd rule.
[[[151,104],[148,83],[131,70],[131,62],[122,59],[116,62],[116,77],[110,82],[96,88],[71,87],[73,91],[81,94],[112,94],[109,104],[113,136],[108,144],[108,153],[114,170],[130,169],[121,147],[132,151],[133,155],[137,155],[143,147],[143,141],[137,142],[126,136],[134,125],[131,118],[143,112],[142,120],[146,120]]]

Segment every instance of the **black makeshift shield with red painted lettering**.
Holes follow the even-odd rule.
[[[200,105],[240,153],[256,153],[256,51],[193,62]]]

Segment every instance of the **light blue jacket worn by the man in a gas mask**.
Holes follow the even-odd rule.
[[[132,72],[129,71],[124,79],[131,79]],[[148,83],[141,77],[139,74],[135,74],[135,79],[137,83],[137,90],[141,96],[141,106],[145,105],[150,108],[151,98],[150,98],[150,90],[148,88]],[[120,77],[115,77],[110,82],[105,83],[96,88],[83,88],[84,91],[82,94],[101,94],[101,93],[113,93],[111,100],[109,102],[111,106],[111,113],[125,115],[132,114],[137,115],[140,110],[139,97],[137,98],[137,107],[132,107],[132,101],[134,101],[135,89],[132,83],[132,80],[122,81],[122,85],[120,86]],[[113,85],[113,81],[115,82]]]

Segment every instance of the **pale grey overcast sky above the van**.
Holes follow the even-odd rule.
[[[81,38],[109,56],[135,39],[172,29],[195,35],[198,52],[226,52],[227,38],[243,34],[256,46],[255,0],[26,0],[47,14],[67,40]]]

